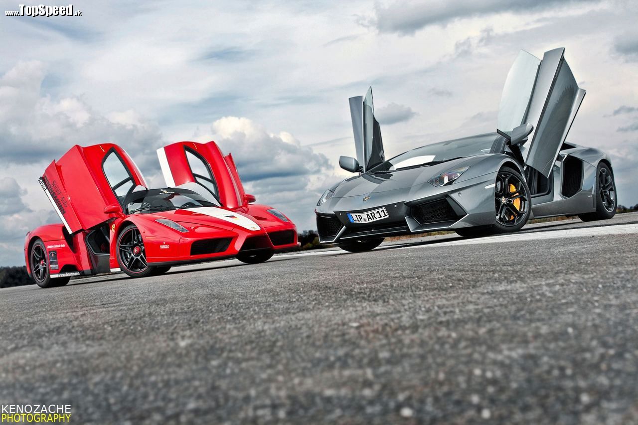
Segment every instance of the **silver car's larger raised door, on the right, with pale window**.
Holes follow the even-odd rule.
[[[521,154],[528,167],[545,177],[585,94],[564,54],[565,48],[555,48],[540,60],[521,50],[507,75],[498,114],[498,129],[505,133],[524,123],[534,126]]]

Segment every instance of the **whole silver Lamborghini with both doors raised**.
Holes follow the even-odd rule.
[[[357,158],[353,177],[316,206],[322,243],[367,251],[384,237],[434,230],[463,236],[515,232],[531,218],[616,213],[609,156],[565,138],[585,91],[563,57],[521,50],[501,96],[495,133],[417,147],[385,159],[372,90],[350,98]]]

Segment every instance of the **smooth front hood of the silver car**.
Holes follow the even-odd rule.
[[[370,193],[410,188],[415,184],[426,183],[432,177],[443,172],[461,167],[467,160],[468,158],[460,158],[427,167],[357,175],[341,182],[334,190],[334,197],[360,197]]]

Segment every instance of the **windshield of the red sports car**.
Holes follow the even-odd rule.
[[[211,198],[186,189],[151,189],[133,192],[126,201],[127,214],[148,214],[174,209],[218,207]]]

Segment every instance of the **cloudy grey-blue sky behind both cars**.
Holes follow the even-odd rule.
[[[348,97],[373,86],[388,155],[493,131],[520,48],[566,48],[587,90],[569,139],[610,153],[638,203],[635,1],[96,3],[0,16],[0,265],[56,221],[37,179],[73,144],[115,142],[161,186],[157,147],[216,140],[258,202],[314,228],[354,156]]]

